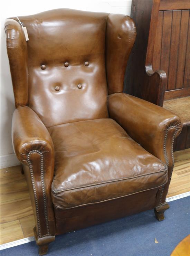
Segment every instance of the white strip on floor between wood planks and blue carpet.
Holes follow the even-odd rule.
[[[190,192],[182,193],[180,195],[173,196],[173,197],[168,197],[166,199],[166,201],[171,202],[171,201],[174,201],[174,200],[177,200],[177,199],[180,199],[180,198],[183,198],[183,197],[188,197],[188,196],[190,196]],[[7,248],[17,246],[17,245],[21,245],[21,244],[26,244],[26,243],[29,243],[29,242],[34,241],[34,240],[35,240],[34,236],[31,236],[31,237],[16,240],[16,241],[13,241],[13,242],[10,242],[10,243],[7,243],[7,244],[2,244],[2,245],[0,245],[0,250],[7,249]]]

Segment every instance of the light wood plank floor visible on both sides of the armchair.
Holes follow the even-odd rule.
[[[175,166],[168,197],[190,191],[190,149],[174,153]],[[20,167],[0,170],[0,244],[33,236],[34,216]]]

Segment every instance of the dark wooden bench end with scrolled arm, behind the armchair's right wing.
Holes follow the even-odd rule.
[[[131,17],[137,36],[125,74],[124,92],[163,105],[167,77],[163,70],[153,70],[153,48],[160,0],[133,0]]]

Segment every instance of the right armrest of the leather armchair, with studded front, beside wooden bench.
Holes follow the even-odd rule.
[[[174,165],[173,142],[182,130],[179,116],[125,93],[108,96],[108,111],[131,138],[167,164],[168,183],[162,187],[159,205],[164,203]]]

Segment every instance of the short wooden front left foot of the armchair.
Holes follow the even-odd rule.
[[[51,242],[55,240],[55,236],[44,236],[41,238],[38,238],[37,232],[36,232],[36,227],[34,227],[34,235],[36,239],[36,244],[38,245],[38,254],[39,255],[45,255],[48,252],[48,246]]]

